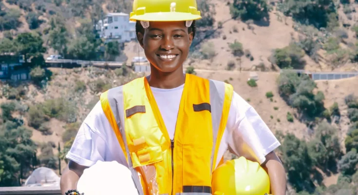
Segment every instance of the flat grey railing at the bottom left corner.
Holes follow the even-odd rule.
[[[59,186],[2,187],[0,195],[61,195]]]

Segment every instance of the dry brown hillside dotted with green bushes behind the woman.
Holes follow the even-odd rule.
[[[247,13],[240,12],[246,6],[242,2],[198,0],[204,9],[203,22],[197,25],[184,67],[188,73],[232,84],[256,109],[282,143],[277,153],[287,171],[290,195],[319,195],[325,187],[326,195],[345,194],[341,190],[347,189],[353,195],[358,192],[352,187],[358,184],[358,78],[314,82],[306,76],[280,74],[280,70],[357,72],[357,0],[312,0],[312,4],[248,0],[245,3],[254,6]],[[33,42],[36,51],[26,53],[26,58],[62,54],[66,59],[112,60],[125,55],[130,64],[138,53],[144,56],[139,44],[133,40],[124,48],[105,45],[93,33],[92,24],[108,12],[129,13],[131,6],[130,0],[1,0],[0,53],[22,54],[25,44],[19,44],[18,38],[23,36],[38,38]],[[33,61],[32,80],[0,82],[0,133],[6,129],[20,134],[26,132],[21,127],[26,127],[27,134],[21,134],[32,132],[31,137],[19,145],[28,142],[27,149],[37,150],[35,159],[21,156],[28,159],[22,178],[41,165],[59,174],[57,155],[63,168],[64,155],[99,95],[144,75],[129,68],[45,71],[40,60]],[[248,81],[252,72],[258,75],[257,81]],[[227,152],[225,157],[233,156]],[[13,176],[0,180],[0,186],[17,185],[19,168],[11,168],[18,171],[7,173]]]

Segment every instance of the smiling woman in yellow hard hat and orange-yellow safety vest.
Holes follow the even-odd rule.
[[[254,108],[229,84],[183,74],[201,18],[196,7],[195,0],[134,0],[130,20],[151,75],[101,95],[67,155],[63,194],[97,160],[129,167],[141,195],[214,194],[212,172],[230,148],[259,162],[272,194],[285,195],[273,151],[280,143]]]

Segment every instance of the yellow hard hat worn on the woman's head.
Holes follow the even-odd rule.
[[[134,0],[131,21],[190,21],[201,19],[196,0]]]

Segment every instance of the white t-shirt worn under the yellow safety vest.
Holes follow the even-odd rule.
[[[155,101],[162,114],[170,138],[174,137],[175,123],[184,85],[173,89],[151,87]],[[245,156],[262,164],[265,156],[280,146],[262,118],[236,92],[233,94],[227,118],[226,131],[222,137],[216,166],[228,149],[237,156]],[[117,161],[128,167],[117,137],[105,116],[100,101],[83,121],[75,141],[66,156],[83,166],[100,161]]]

